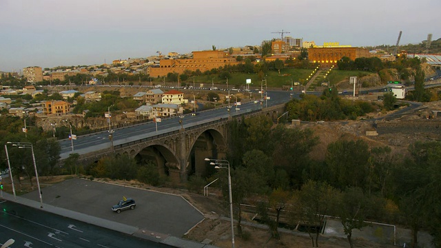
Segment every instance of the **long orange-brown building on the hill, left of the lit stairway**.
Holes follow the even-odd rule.
[[[205,72],[225,65],[236,65],[236,58],[229,52],[219,50],[195,51],[193,59],[161,59],[158,67],[147,69],[152,77],[167,76],[168,73],[183,74],[185,70]]]

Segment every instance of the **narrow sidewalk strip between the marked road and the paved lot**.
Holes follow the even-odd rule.
[[[191,240],[184,240],[182,238],[178,238],[174,236],[167,236],[166,234],[158,234],[151,231],[140,230],[138,227],[132,227],[130,225],[116,223],[114,221],[105,220],[103,218],[96,218],[94,216],[81,214],[79,212],[72,211],[69,209],[63,209],[61,207],[54,207],[52,205],[48,205],[45,203],[43,203],[43,207],[41,207],[38,201],[29,200],[26,198],[22,198],[20,196],[17,196],[17,200],[14,200],[14,196],[6,192],[3,192],[3,199],[9,200],[12,203],[18,203],[28,207],[33,207],[34,209],[41,209],[43,211],[47,211],[52,214],[57,214],[59,216],[64,216],[64,217],[72,218],[74,220],[79,220],[83,223],[88,223],[91,225],[96,225],[98,227],[119,231],[123,234],[132,235],[137,238],[143,238],[145,240],[158,242],[164,245],[170,245],[176,248],[218,248],[213,245],[204,245]]]

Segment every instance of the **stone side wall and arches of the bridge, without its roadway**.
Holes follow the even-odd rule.
[[[283,113],[284,105],[267,107],[258,112],[248,113],[245,117],[266,114],[276,123]],[[240,121],[242,116],[234,116]],[[93,163],[105,156],[121,156],[126,154],[135,158],[139,164],[156,165],[159,174],[169,176],[175,183],[183,183],[189,175],[207,174],[207,163],[204,158],[225,158],[229,138],[229,118],[204,123],[193,127],[160,134],[138,141],[116,145],[114,149],[83,154],[83,163]]]

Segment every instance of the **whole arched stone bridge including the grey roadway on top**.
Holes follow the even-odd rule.
[[[267,114],[274,121],[283,114],[285,103],[298,98],[300,92],[269,91],[267,100],[220,107],[183,116],[162,118],[161,122],[142,123],[112,130],[77,136],[76,140],[59,141],[61,159],[72,153],[80,155],[83,164],[103,157],[136,158],[138,163],[154,163],[160,174],[176,182],[188,175],[205,174],[204,158],[222,158],[227,152],[227,123],[232,118]],[[182,121],[182,123],[180,123]],[[73,147],[72,147],[73,143]]]

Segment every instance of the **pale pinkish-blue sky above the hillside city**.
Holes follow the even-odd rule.
[[[440,0],[0,0],[0,71],[260,45],[441,38]]]

